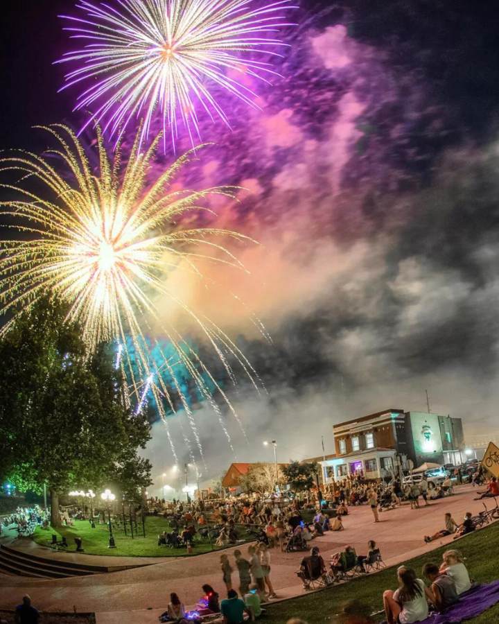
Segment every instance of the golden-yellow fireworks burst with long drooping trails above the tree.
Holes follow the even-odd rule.
[[[187,268],[203,279],[196,261],[206,258],[243,268],[217,239],[229,236],[236,240],[250,240],[247,237],[225,229],[182,229],[173,225],[173,221],[189,211],[207,211],[207,207],[199,204],[208,196],[234,198],[234,191],[238,189],[169,189],[177,171],[189,162],[193,150],[180,157],[148,186],[147,174],[160,137],[141,153],[140,130],[122,175],[121,150],[116,150],[114,162],[111,162],[99,129],[98,175],[91,171],[85,150],[69,128],[56,125],[44,130],[51,132],[60,142],[60,149],[50,153],[67,164],[73,184],[37,155],[21,153],[0,159],[0,171],[13,169],[24,179],[35,178],[57,198],[55,203],[28,189],[1,184],[3,188],[19,193],[20,199],[3,202],[0,214],[15,219],[15,223],[7,227],[26,233],[24,240],[0,242],[1,313],[12,313],[12,320],[1,331],[8,331],[16,315],[29,309],[44,292],[57,293],[69,303],[69,318],[81,324],[83,338],[90,349],[95,349],[101,341],[116,340],[119,343],[115,365],[128,375],[128,398],[139,413],[146,395],[149,393],[154,397],[175,460],[177,455],[164,408],[166,401],[175,412],[168,390],[172,386],[180,396],[202,456],[193,414],[175,374],[175,367],[179,365],[192,376],[202,397],[215,410],[230,443],[222,414],[213,399],[213,388],[221,393],[232,413],[233,408],[192,347],[182,340],[174,327],[165,324],[164,318],[159,319],[154,299],[157,295],[168,297],[172,304],[180,306],[185,315],[198,323],[231,379],[234,379],[229,364],[231,358],[243,366],[252,381],[255,379],[251,365],[236,345],[215,324],[189,309],[168,288],[165,279],[165,272],[170,268]],[[164,345],[156,341],[153,347],[155,356],[152,357],[141,329],[150,329],[148,318],[161,322],[164,338],[173,347],[173,356],[171,352],[166,354]]]

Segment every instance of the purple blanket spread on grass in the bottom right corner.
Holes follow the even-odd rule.
[[[476,584],[462,593],[455,605],[441,613],[430,614],[421,624],[459,624],[479,616],[496,603],[499,603],[499,580]]]

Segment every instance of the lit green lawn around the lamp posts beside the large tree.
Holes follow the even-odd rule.
[[[107,548],[109,545],[109,530],[105,524],[96,524],[96,528],[91,528],[89,521],[76,520],[74,526],[61,526],[58,529],[43,530],[37,527],[33,535],[33,539],[37,544],[47,546],[51,541],[51,535],[58,535],[58,539],[66,537],[69,544],[68,551],[76,551],[75,537],[81,537],[83,540],[83,548],[87,555],[113,555],[121,557],[182,557],[187,555],[186,548],[166,548],[157,545],[157,536],[163,531],[170,532],[173,529],[168,526],[168,520],[162,517],[148,516],[146,518],[146,537],[143,537],[142,525],[137,523],[139,535],[135,534],[134,539],[130,535],[130,526],[127,526],[127,536],[123,528],[113,528],[113,537],[116,548]],[[196,526],[196,528],[200,528]],[[250,541],[245,528],[238,527],[238,536],[240,539]],[[235,544],[233,544],[234,546]],[[222,548],[215,546],[213,541],[210,544],[209,539],[196,538],[193,543],[193,554],[200,555],[202,553],[210,553],[211,551],[220,551]],[[61,549],[62,551],[62,549]]]

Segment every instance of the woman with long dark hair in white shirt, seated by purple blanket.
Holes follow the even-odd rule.
[[[399,589],[387,589],[383,593],[383,605],[388,624],[412,624],[428,617],[428,603],[433,595],[416,573],[401,567],[397,571]]]

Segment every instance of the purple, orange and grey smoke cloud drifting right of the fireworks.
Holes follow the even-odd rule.
[[[441,11],[435,21],[448,26]],[[483,115],[471,115],[467,98],[435,78],[429,55],[455,45],[439,40],[438,24],[426,39],[416,30],[388,42],[365,24],[350,33],[351,17],[297,19],[277,67],[283,78],[251,85],[261,110],[229,102],[232,130],[203,125],[216,146],[182,180],[245,187],[238,202],[212,204],[210,223],[259,243],[231,246],[247,272],[204,263],[207,281],[168,276],[263,381],[259,394],[238,374],[233,388],[195,324],[168,309],[224,383],[245,433],[223,418],[243,462],[272,460],[266,439],[277,440],[280,460],[319,456],[321,436],[332,452],[335,422],[426,410],[426,389],[432,411],[462,417],[465,433],[499,429],[498,142],[484,140]],[[481,111],[490,132],[495,111],[487,102]],[[197,407],[207,480],[234,453],[209,406]],[[180,456],[199,461],[182,413],[168,422]],[[147,454],[158,473],[173,462],[161,422]]]

